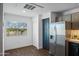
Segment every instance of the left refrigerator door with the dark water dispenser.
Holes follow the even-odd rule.
[[[55,24],[50,24],[49,54],[55,55],[56,51],[56,32]]]

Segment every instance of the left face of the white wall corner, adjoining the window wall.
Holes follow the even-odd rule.
[[[32,18],[33,20],[33,45],[39,48],[39,35],[38,35],[38,15]]]

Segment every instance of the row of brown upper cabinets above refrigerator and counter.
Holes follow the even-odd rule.
[[[68,15],[59,16],[57,21],[71,22],[69,27],[73,30],[79,30],[79,13],[73,13]]]

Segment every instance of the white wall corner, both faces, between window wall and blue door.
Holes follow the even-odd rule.
[[[33,45],[37,49],[42,48],[42,20],[41,15],[33,17]]]

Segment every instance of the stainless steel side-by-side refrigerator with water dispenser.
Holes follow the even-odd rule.
[[[65,56],[67,22],[56,22],[50,24],[49,54],[54,56]]]

